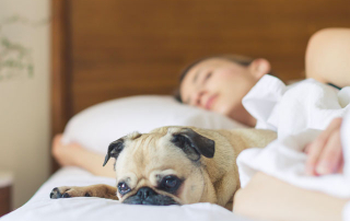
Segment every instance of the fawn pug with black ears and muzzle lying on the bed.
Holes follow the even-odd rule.
[[[116,187],[56,187],[50,198],[102,197],[159,206],[211,202],[232,210],[240,188],[237,155],[275,139],[276,132],[259,129],[176,126],[132,132],[109,144],[103,164],[110,158],[116,160]]]

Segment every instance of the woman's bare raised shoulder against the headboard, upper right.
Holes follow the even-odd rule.
[[[343,88],[350,85],[350,28],[325,28],[307,44],[306,78]]]

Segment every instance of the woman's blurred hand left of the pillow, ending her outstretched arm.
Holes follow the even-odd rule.
[[[61,166],[77,165],[79,152],[83,149],[78,143],[62,144],[62,135],[56,135],[52,140],[51,154]]]

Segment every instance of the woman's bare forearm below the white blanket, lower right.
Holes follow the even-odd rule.
[[[235,194],[234,212],[272,221],[340,221],[347,200],[299,188],[259,172]]]

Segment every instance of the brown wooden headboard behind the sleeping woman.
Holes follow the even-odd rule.
[[[310,36],[350,26],[346,0],[52,0],[52,133],[93,104],[170,94],[179,71],[218,54],[265,57],[304,77]]]

